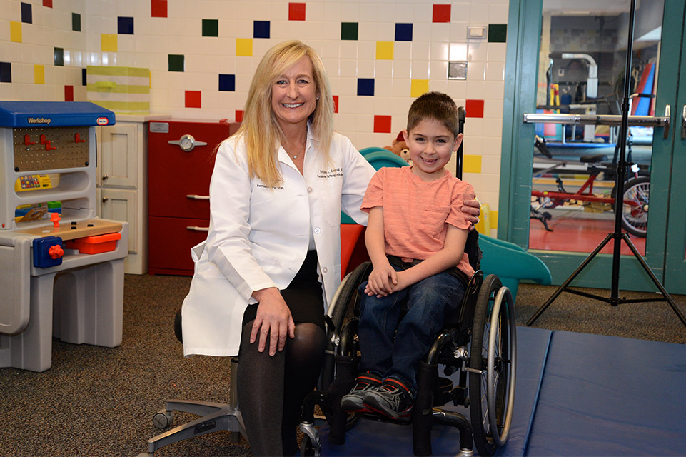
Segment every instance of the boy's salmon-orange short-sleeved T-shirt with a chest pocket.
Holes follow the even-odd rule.
[[[360,206],[366,212],[383,206],[385,253],[403,261],[425,260],[443,249],[446,224],[468,229],[462,206],[465,194],[474,194],[471,184],[454,178],[448,170],[443,178],[427,182],[410,168],[387,167],[377,171]],[[474,274],[467,254],[463,254],[457,267],[469,277]]]

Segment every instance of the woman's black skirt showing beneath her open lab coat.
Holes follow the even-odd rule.
[[[291,310],[293,322],[316,323],[324,327],[324,298],[322,296],[321,283],[317,271],[317,251],[307,251],[307,256],[288,287],[281,291],[283,300],[286,301]],[[257,316],[258,303],[248,305],[246,312],[243,313],[243,326],[253,321]]]

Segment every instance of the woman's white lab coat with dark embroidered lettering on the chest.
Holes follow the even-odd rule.
[[[331,302],[341,282],[341,209],[367,224],[360,204],[375,169],[340,134],[333,136],[327,164],[310,131],[304,176],[279,147],[278,189],[249,177],[241,139],[231,137],[219,147],[208,236],[191,250],[195,274],[181,311],[186,356],[238,354],[243,313],[248,303],[256,303],[253,291],[291,283],[305,260],[310,229],[325,307]]]

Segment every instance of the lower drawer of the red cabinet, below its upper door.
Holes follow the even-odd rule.
[[[207,238],[207,231],[202,229],[209,226],[209,219],[151,216],[149,223],[149,273],[192,275],[191,248]]]

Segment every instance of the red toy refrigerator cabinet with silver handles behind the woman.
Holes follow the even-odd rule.
[[[148,273],[191,276],[191,248],[207,237],[216,146],[239,122],[150,121]]]

